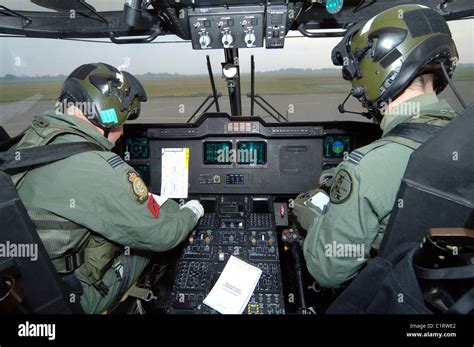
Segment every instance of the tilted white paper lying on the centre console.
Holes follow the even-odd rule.
[[[230,256],[204,303],[222,314],[241,314],[262,275],[262,270]]]

